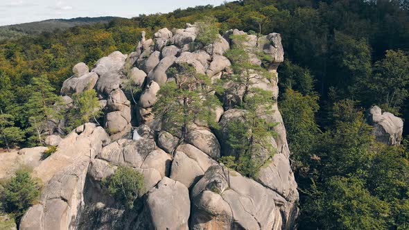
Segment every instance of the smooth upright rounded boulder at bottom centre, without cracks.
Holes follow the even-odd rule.
[[[189,229],[189,191],[180,182],[164,177],[148,192],[146,207],[152,229]]]

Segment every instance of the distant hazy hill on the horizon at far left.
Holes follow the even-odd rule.
[[[55,29],[67,29],[74,26],[85,26],[98,22],[108,23],[117,17],[77,17],[73,19],[49,19],[10,26],[0,26],[0,41],[18,38],[24,35],[38,35],[42,32],[52,32]]]

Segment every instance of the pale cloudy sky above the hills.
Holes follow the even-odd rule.
[[[136,17],[224,0],[0,0],[0,26],[74,17]]]

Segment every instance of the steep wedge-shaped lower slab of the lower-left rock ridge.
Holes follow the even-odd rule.
[[[83,208],[83,189],[90,159],[60,170],[46,184],[39,204],[21,218],[19,229],[73,229]]]

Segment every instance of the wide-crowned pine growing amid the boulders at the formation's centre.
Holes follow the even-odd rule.
[[[214,109],[220,104],[214,95],[220,90],[217,82],[208,76],[196,73],[188,64],[169,68],[167,82],[159,90],[153,113],[162,121],[162,127],[184,140],[195,121],[214,124]]]

